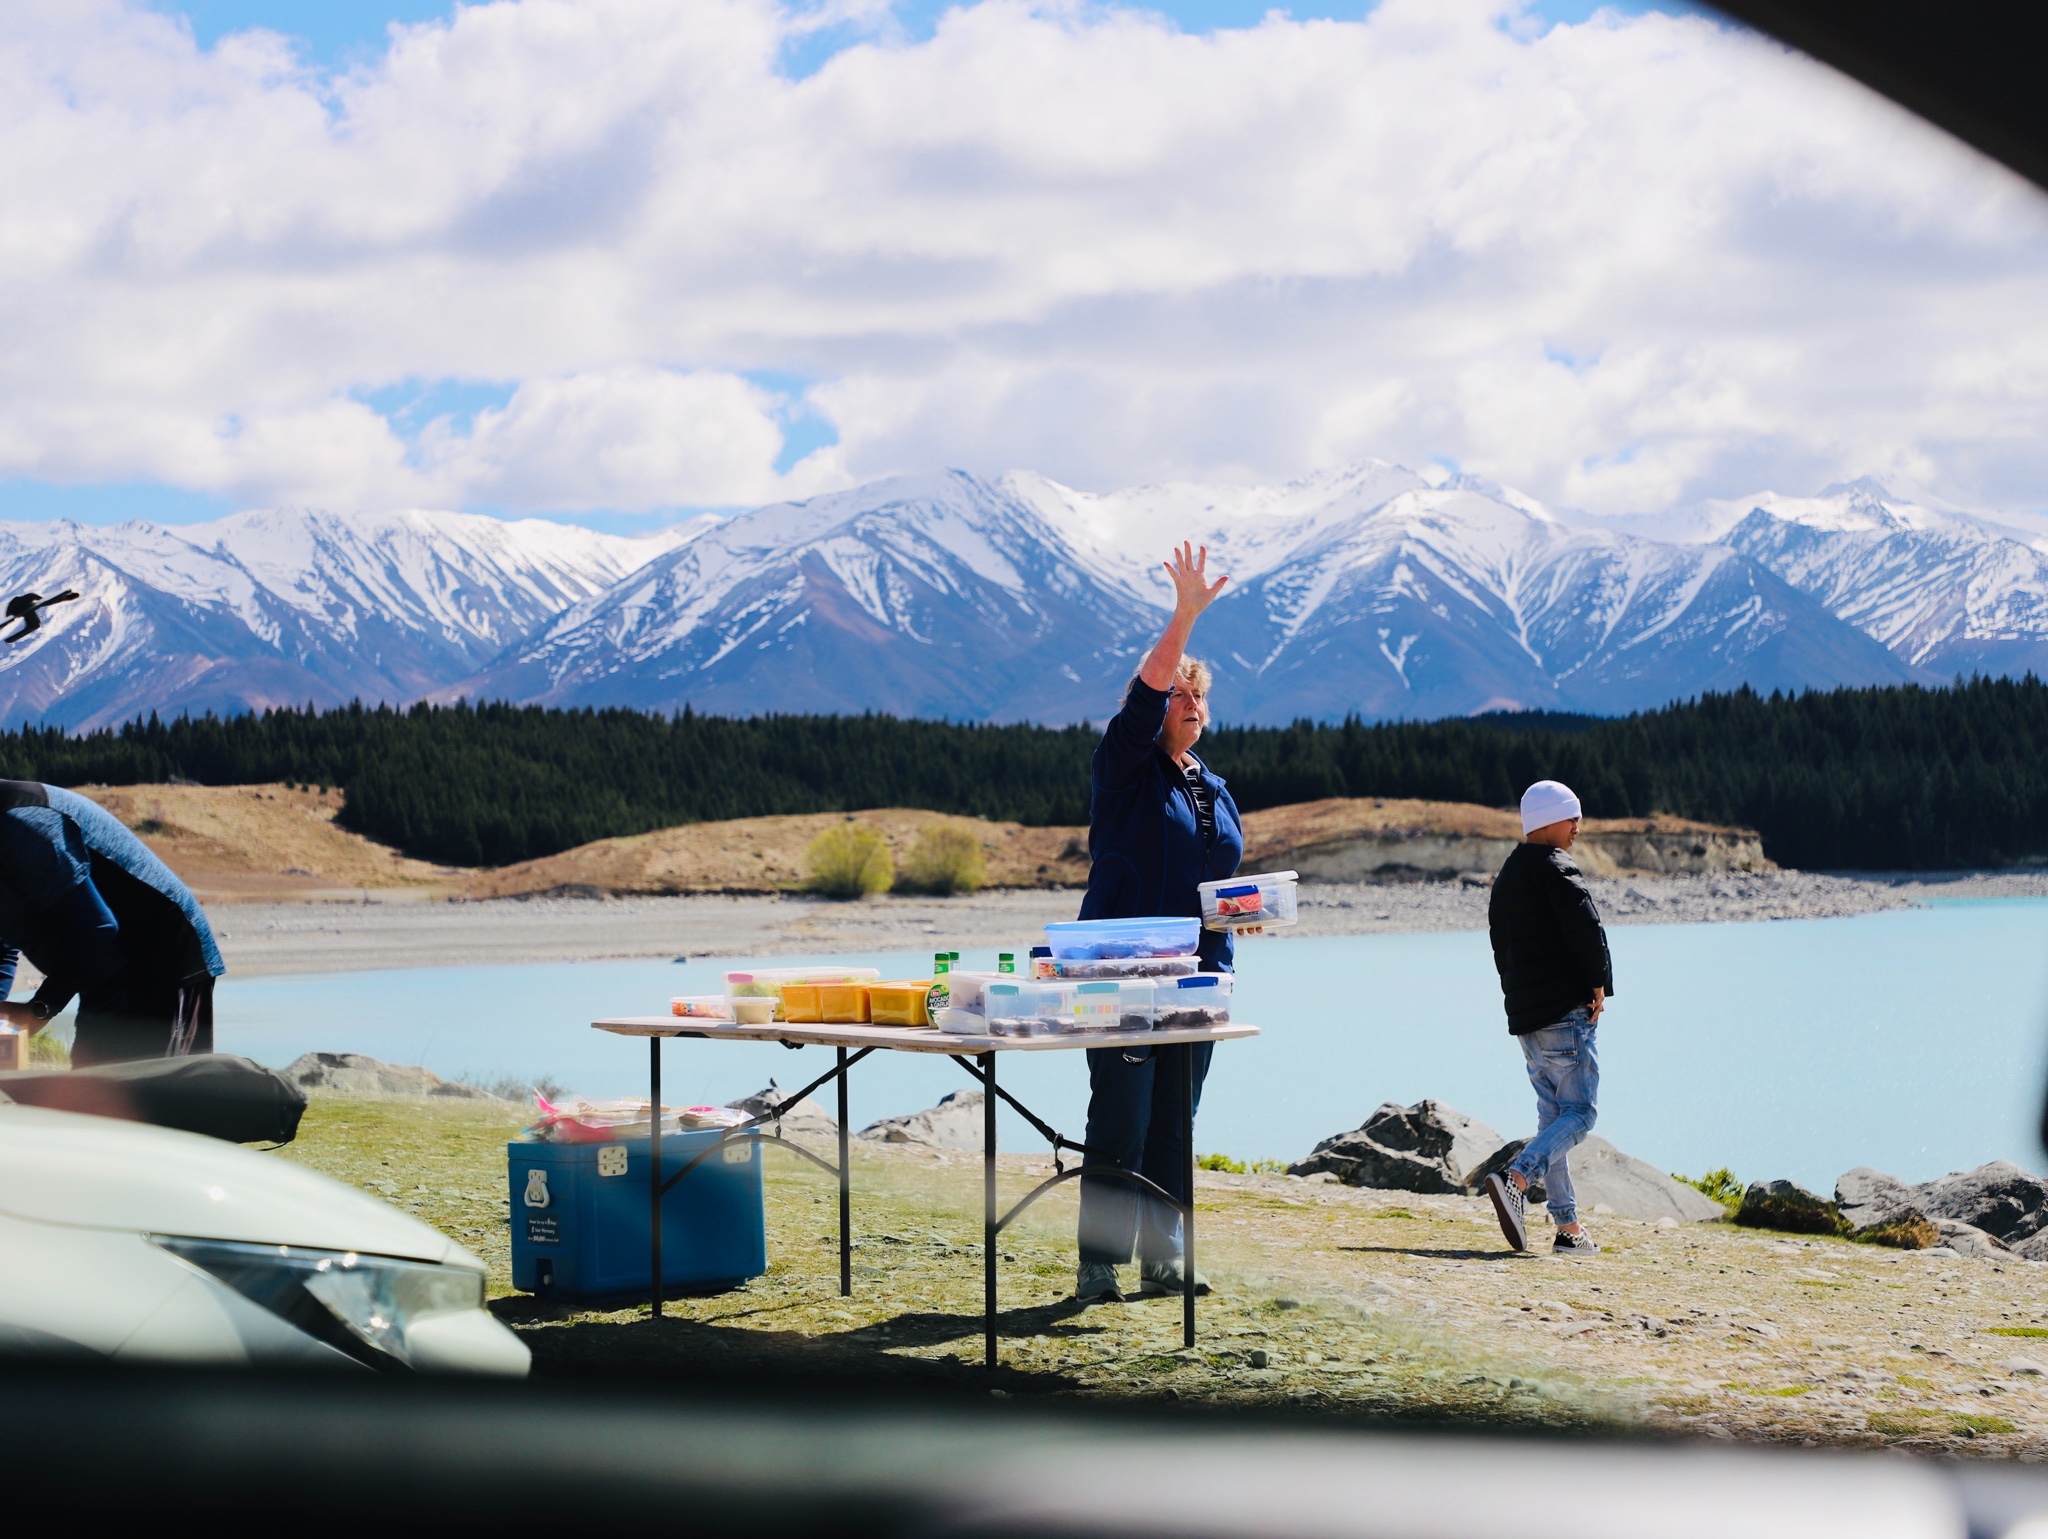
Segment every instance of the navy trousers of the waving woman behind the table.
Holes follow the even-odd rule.
[[[1186,1055],[1194,1053],[1194,1105],[1202,1105],[1202,1080],[1214,1043],[1165,1043],[1161,1047],[1087,1049],[1087,1133],[1081,1141],[1087,1164],[1135,1170],[1186,1203],[1188,1143],[1182,1137],[1186,1109],[1182,1080]],[[1122,1264],[1137,1244],[1141,1260],[1180,1258],[1180,1213],[1128,1180],[1081,1178],[1081,1260]]]

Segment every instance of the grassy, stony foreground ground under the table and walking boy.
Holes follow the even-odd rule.
[[[1004,1238],[1004,1365],[981,1355],[981,1162],[856,1150],[854,1297],[827,1176],[770,1152],[766,1277],[578,1309],[510,1293],[496,1105],[319,1098],[281,1158],[385,1197],[492,1266],[541,1375],[850,1375],[1014,1396],[1290,1406],[1329,1416],[1905,1445],[2048,1457],[2042,1271],[1593,1215],[1602,1254],[1511,1256],[1479,1199],[1204,1174],[1200,1342],[1178,1299],[1077,1307],[1073,1199]],[[1004,1156],[1014,1199],[1049,1174]],[[1071,1191],[1071,1189],[1069,1189]],[[1540,1244],[1548,1234],[1540,1232]]]

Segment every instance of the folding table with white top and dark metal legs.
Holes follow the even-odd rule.
[[[846,1076],[860,1059],[877,1051],[889,1053],[944,1053],[973,1078],[981,1090],[981,1271],[983,1271],[983,1357],[989,1367],[995,1367],[995,1250],[1001,1232],[1032,1203],[1044,1197],[1049,1191],[1067,1180],[1077,1180],[1079,1176],[1100,1176],[1106,1180],[1126,1180],[1141,1191],[1151,1193],[1159,1201],[1167,1203],[1182,1215],[1182,1273],[1184,1273],[1184,1293],[1182,1293],[1182,1338],[1188,1346],[1194,1346],[1194,1053],[1182,1055],[1182,1074],[1186,1076],[1182,1107],[1186,1109],[1186,1125],[1182,1135],[1188,1146],[1188,1195],[1190,1201],[1182,1203],[1169,1197],[1157,1182],[1147,1180],[1135,1170],[1120,1170],[1112,1164],[1090,1164],[1090,1150],[1063,1133],[1055,1131],[1042,1117],[1030,1111],[1024,1103],[1012,1096],[995,1082],[995,1057],[999,1053],[1047,1053],[1047,1051],[1071,1051],[1075,1047],[1165,1047],[1169,1043],[1204,1043],[1204,1041],[1235,1041],[1239,1037],[1257,1037],[1257,1027],[1245,1025],[1217,1025],[1217,1027],[1169,1027],[1163,1031],[1075,1031],[1059,1033],[1051,1037],[975,1037],[952,1031],[926,1031],[922,1027],[872,1027],[872,1025],[797,1025],[791,1021],[776,1021],[772,1025],[737,1025],[733,1021],[707,1021],[700,1016],[625,1016],[616,1021],[592,1021],[598,1031],[610,1031],[621,1037],[645,1037],[647,1039],[647,1103],[651,1107],[662,1105],[662,1039],[664,1037],[698,1037],[705,1041],[778,1041],[786,1047],[836,1047],[838,1064],[821,1074],[817,1080],[786,1096],[780,1105],[795,1105],[831,1082],[838,1082],[840,1092],[840,1160],[838,1164],[823,1160],[813,1150],[803,1148],[776,1133],[764,1133],[766,1123],[780,1125],[780,1109],[766,1111],[745,1123],[739,1123],[725,1131],[725,1135],[702,1150],[688,1164],[682,1166],[668,1180],[659,1178],[662,1170],[662,1119],[653,1117],[653,1146],[649,1150],[649,1170],[655,1174],[647,1182],[647,1203],[651,1213],[651,1281],[653,1281],[653,1320],[662,1318],[662,1195],[674,1187],[678,1180],[688,1176],[698,1164],[709,1160],[713,1154],[723,1150],[735,1139],[756,1139],[760,1143],[776,1143],[791,1154],[799,1154],[811,1164],[827,1170],[840,1182],[840,1293],[850,1295],[854,1291],[854,1240],[852,1240],[852,1164],[848,1162],[848,1129],[846,1129]],[[1053,1174],[1032,1187],[1008,1213],[995,1211],[995,1103],[1006,1100],[1018,1115],[1024,1117],[1032,1127],[1036,1127],[1044,1139],[1053,1146]],[[1067,1170],[1061,1164],[1059,1152],[1073,1150],[1081,1156],[1081,1164]]]

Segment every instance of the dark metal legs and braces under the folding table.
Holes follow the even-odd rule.
[[[793,1043],[784,1043],[784,1047],[788,1047],[788,1045],[793,1045]],[[1192,1049],[1192,1043],[1188,1043],[1188,1047]],[[838,1178],[838,1182],[840,1182],[840,1297],[852,1297],[852,1291],[854,1291],[854,1193],[852,1193],[852,1162],[848,1158],[848,1141],[846,1141],[848,1139],[848,1133],[846,1133],[846,1076],[848,1076],[848,1070],[852,1070],[854,1064],[858,1064],[862,1057],[866,1057],[868,1053],[872,1053],[877,1049],[874,1047],[862,1047],[852,1057],[846,1055],[844,1047],[840,1047],[836,1051],[838,1051],[838,1062],[834,1064],[834,1068],[829,1068],[825,1074],[819,1074],[815,1080],[811,1080],[811,1084],[803,1086],[803,1090],[799,1090],[797,1094],[782,1096],[782,1100],[774,1109],[764,1111],[758,1117],[750,1117],[748,1121],[737,1123],[737,1125],[725,1129],[719,1135],[717,1143],[713,1143],[707,1150],[700,1150],[694,1158],[690,1158],[668,1180],[659,1178],[659,1170],[662,1170],[662,1117],[653,1115],[649,1119],[651,1121],[651,1129],[653,1129],[651,1135],[649,1135],[649,1150],[647,1150],[647,1156],[649,1156],[647,1158],[647,1170],[649,1170],[649,1180],[647,1180],[647,1223],[649,1223],[649,1234],[651,1234],[651,1242],[649,1242],[649,1264],[651,1264],[651,1273],[649,1273],[649,1277],[651,1277],[651,1299],[649,1299],[651,1309],[649,1309],[649,1320],[662,1320],[662,1197],[668,1195],[670,1187],[674,1187],[678,1180],[682,1180],[692,1170],[696,1170],[696,1166],[700,1166],[713,1154],[719,1154],[729,1143],[739,1143],[739,1141],[774,1143],[776,1148],[784,1148],[791,1154],[801,1154],[805,1160],[809,1160],[811,1164],[815,1164],[819,1170],[825,1170],[827,1174],[831,1174],[834,1178]],[[1165,1189],[1161,1189],[1159,1182],[1141,1176],[1137,1170],[1124,1170],[1124,1168],[1114,1166],[1114,1164],[1087,1164],[1087,1156],[1090,1154],[1098,1154],[1100,1156],[1098,1150],[1090,1150],[1085,1143],[1075,1143],[1071,1137],[1065,1137],[1051,1123],[1047,1123],[1042,1117],[1038,1117],[1030,1107],[1026,1107],[1022,1100],[1018,1100],[1014,1094],[1010,1094],[1008,1090],[1004,1090],[995,1082],[995,1053],[975,1053],[975,1057],[981,1059],[979,1068],[965,1053],[948,1053],[948,1057],[954,1064],[958,1064],[963,1070],[967,1070],[967,1074],[973,1076],[981,1084],[981,1088],[983,1088],[983,1096],[981,1096],[981,1346],[983,1346],[983,1365],[989,1367],[989,1369],[993,1369],[997,1365],[997,1361],[999,1361],[997,1359],[997,1344],[995,1344],[995,1262],[997,1262],[995,1242],[1001,1238],[1001,1232],[1008,1230],[1010,1223],[1018,1215],[1024,1213],[1026,1207],[1030,1207],[1032,1203],[1036,1203],[1049,1191],[1053,1191],[1055,1187],[1059,1187],[1059,1184],[1063,1184],[1067,1180],[1081,1180],[1081,1178],[1090,1178],[1090,1176],[1098,1176],[1098,1178],[1104,1178],[1104,1180],[1128,1180],[1130,1184],[1139,1187],[1141,1191],[1151,1193],[1161,1203],[1165,1203],[1176,1213],[1180,1213],[1180,1219],[1182,1219],[1180,1221],[1180,1246],[1182,1246],[1180,1332],[1182,1332],[1182,1344],[1184,1346],[1194,1346],[1194,1285],[1196,1285],[1194,1283],[1194,1051],[1182,1053],[1182,1096],[1180,1096],[1180,1105],[1182,1105],[1182,1141],[1184,1141],[1186,1152],[1188,1152],[1188,1197],[1190,1197],[1190,1201],[1186,1201],[1186,1203],[1178,1201]],[[782,1123],[782,1107],[795,1105],[795,1103],[803,1100],[813,1090],[819,1090],[819,1088],[823,1088],[825,1084],[829,1084],[834,1080],[838,1082],[838,1092],[840,1092],[840,1160],[838,1160],[838,1164],[819,1158],[811,1150],[807,1150],[801,1143],[795,1143],[795,1141],[782,1137],[780,1133],[764,1133],[764,1131],[760,1131],[764,1123],[776,1123],[780,1127],[780,1123]],[[1053,1174],[1047,1176],[1044,1180],[1040,1180],[1036,1187],[1032,1187],[1024,1197],[1020,1197],[1010,1207],[1008,1213],[997,1213],[995,1211],[995,1103],[997,1103],[997,1098],[1010,1103],[1010,1107],[1016,1109],[1016,1113],[1022,1115],[1024,1121],[1028,1121],[1034,1129],[1038,1129],[1038,1133],[1042,1133],[1044,1139],[1053,1146]],[[662,1105],[662,1037],[649,1037],[647,1039],[647,1105],[649,1107],[659,1107]],[[1081,1156],[1081,1164],[1075,1166],[1073,1170],[1063,1168],[1061,1160],[1059,1160],[1059,1152],[1061,1150],[1073,1150],[1075,1154],[1079,1154]]]

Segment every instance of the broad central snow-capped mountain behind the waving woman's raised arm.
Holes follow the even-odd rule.
[[[1577,529],[1501,488],[1370,463],[1108,496],[952,471],[762,508],[444,695],[1100,719],[1157,633],[1178,539],[1233,576],[1198,652],[1235,721],[1923,676],[1733,547]]]

